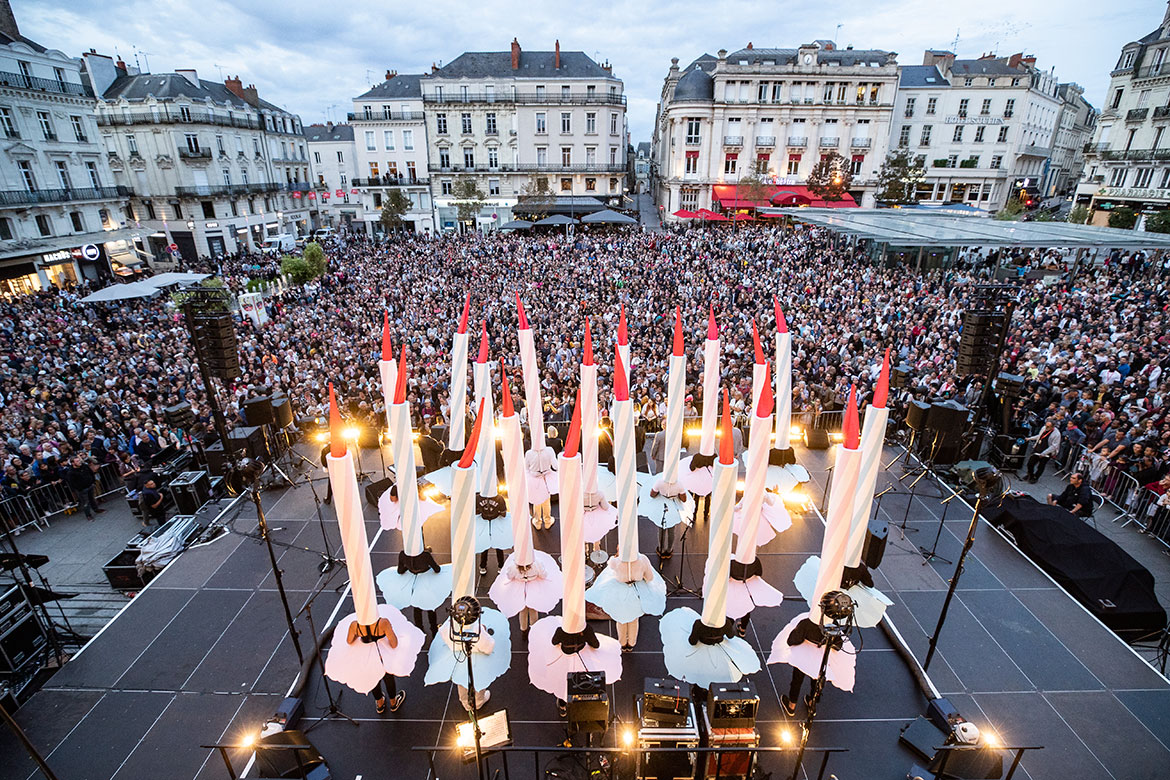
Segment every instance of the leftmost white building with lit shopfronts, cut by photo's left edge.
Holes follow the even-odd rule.
[[[0,295],[109,277],[130,251],[81,60],[20,34],[0,4]]]

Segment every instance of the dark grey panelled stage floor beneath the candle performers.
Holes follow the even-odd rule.
[[[895,450],[887,448],[887,458]],[[813,475],[807,492],[819,505],[824,490],[824,451],[798,448],[798,458]],[[377,453],[366,453],[366,468],[378,470]],[[894,467],[879,477],[883,489],[900,474]],[[318,469],[318,476],[323,472]],[[377,478],[377,477],[376,477]],[[318,483],[324,489],[324,483]],[[934,629],[952,567],[923,565],[914,550],[934,539],[942,509],[934,491],[921,491],[910,508],[909,527],[920,529],[903,541],[892,531],[886,559],[875,572],[876,585],[895,605],[889,610],[897,630],[921,661]],[[314,497],[308,486],[263,495],[274,539],[314,550],[323,546]],[[907,506],[902,496],[882,499],[885,519],[895,525]],[[339,550],[332,509],[324,508],[330,544]],[[952,502],[940,544],[941,554],[954,559],[966,532],[970,510]],[[372,508],[366,508],[373,539],[374,571],[392,564],[399,534],[378,536]],[[448,560],[449,544],[441,522],[427,525],[427,543],[440,561]],[[240,532],[255,531],[250,503],[234,522]],[[655,546],[655,530],[642,524],[644,550]],[[760,551],[764,575],[785,595],[775,609],[752,615],[749,641],[766,657],[772,639],[804,602],[792,577],[808,554],[819,552],[823,524],[815,511],[793,513],[793,527]],[[555,548],[556,527],[536,533],[536,545]],[[608,540],[612,550],[612,534]],[[701,586],[707,525],[700,524],[687,540],[687,555],[667,561],[666,574],[681,566],[684,582]],[[900,550],[903,547],[904,550]],[[345,586],[344,567],[321,578],[321,558],[310,552],[283,548],[280,564],[292,609],[298,609],[324,586],[312,614],[323,628],[335,614]],[[480,586],[486,595],[495,561]],[[697,599],[673,598],[670,606],[697,608]],[[346,596],[339,614],[351,609]],[[311,647],[302,616],[301,642]],[[611,624],[596,624],[613,635]],[[860,636],[859,636],[860,634]],[[830,772],[841,780],[904,778],[915,755],[897,741],[899,731],[925,709],[909,668],[880,628],[854,634],[861,647],[858,683],[853,693],[828,686],[819,707],[810,745],[839,746],[848,753],[834,755]],[[528,682],[528,664],[519,631],[512,623],[512,667],[491,686],[486,707],[505,707],[515,744],[552,747],[564,739],[556,703]],[[621,682],[611,689],[617,717],[629,723],[633,697],[644,677],[666,676],[656,619],[644,617],[636,651],[622,657]],[[407,699],[397,713],[378,716],[373,702],[346,690],[340,706],[360,724],[333,719],[310,733],[325,755],[335,778],[427,778],[426,753],[413,746],[453,745],[454,726],[466,719],[449,684],[424,686],[426,654],[414,675],[401,681]],[[126,609],[54,676],[18,712],[33,743],[47,754],[62,780],[145,778],[227,778],[222,761],[200,747],[213,743],[239,743],[255,733],[276,710],[294,684],[298,664],[287,635],[264,547],[232,533],[184,553]],[[779,706],[779,691],[787,688],[790,668],[770,667],[753,676],[762,696],[758,729],[762,744],[780,745],[780,732],[797,725]],[[980,524],[968,558],[958,594],[943,630],[930,678],[968,719],[992,729],[1007,745],[1042,745],[1030,752],[1018,778],[1053,780],[1117,778],[1141,780],[1165,776],[1170,766],[1170,684],[1138,658],[1052,580],[1025,559],[993,529]],[[332,684],[335,693],[339,685]],[[312,725],[328,704],[314,671],[305,693],[301,727]],[[798,717],[804,716],[801,706]],[[606,736],[613,745],[614,731]],[[0,734],[0,779],[39,776],[32,761],[7,732]],[[546,758],[551,758],[548,754]],[[236,751],[242,769],[246,751]],[[791,757],[764,755],[765,771],[787,776]],[[498,766],[498,759],[493,759]],[[472,778],[474,765],[436,759],[439,776]],[[806,767],[817,767],[815,757]],[[514,778],[532,778],[531,758],[510,761]],[[254,774],[252,776],[255,776]]]

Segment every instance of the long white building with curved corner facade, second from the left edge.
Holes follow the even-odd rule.
[[[149,74],[95,53],[83,58],[115,182],[133,191],[150,255],[227,255],[316,227],[298,117],[239,77],[218,83],[194,70]]]

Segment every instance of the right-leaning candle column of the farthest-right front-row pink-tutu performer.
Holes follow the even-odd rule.
[[[808,619],[814,623],[820,621],[821,598],[841,587],[845,545],[848,543],[853,495],[858,488],[858,467],[861,463],[861,450],[858,449],[861,436],[858,428],[858,394],[856,389],[851,387],[849,403],[845,408],[845,441],[837,446],[837,460],[833,463],[833,484],[825,516],[825,538],[820,545],[820,568],[817,572],[812,602],[808,605]]]

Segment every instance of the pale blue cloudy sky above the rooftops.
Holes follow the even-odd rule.
[[[305,123],[336,119],[390,68],[420,73],[462,51],[581,50],[613,63],[628,96],[633,141],[648,140],[670,57],[792,48],[815,39],[887,49],[917,64],[927,48],[961,57],[1026,51],[1100,108],[1119,48],[1155,29],[1162,0],[640,0],[534,2],[429,0],[12,0],[21,32],[80,55],[121,54],[153,73],[195,68],[202,78],[239,74],[261,97]]]

